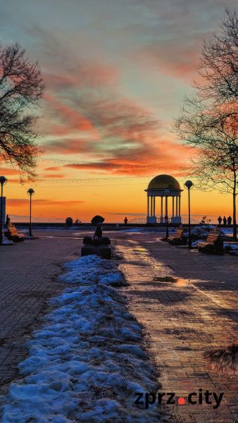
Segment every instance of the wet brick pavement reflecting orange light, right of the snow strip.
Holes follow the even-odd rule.
[[[162,392],[225,393],[216,410],[206,404],[170,410],[182,422],[236,422],[237,380],[213,371],[203,353],[237,340],[237,257],[173,247],[156,233],[118,233],[114,243],[130,283],[122,291],[144,326],[147,348],[161,370]],[[163,276],[180,280],[160,281]]]

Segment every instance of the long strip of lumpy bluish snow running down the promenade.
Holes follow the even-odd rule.
[[[27,342],[21,379],[3,400],[3,423],[153,423],[169,417],[134,405],[136,392],[156,391],[140,347],[142,329],[112,286],[123,283],[111,262],[85,256],[65,265],[70,283],[51,300],[42,329]]]

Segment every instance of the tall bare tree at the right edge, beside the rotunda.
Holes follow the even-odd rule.
[[[225,49],[225,46],[227,50]],[[196,97],[184,99],[175,132],[195,147],[189,174],[202,190],[232,194],[233,237],[237,239],[238,19],[227,11],[223,33],[206,42]]]

